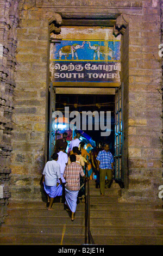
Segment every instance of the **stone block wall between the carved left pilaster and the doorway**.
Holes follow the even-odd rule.
[[[33,7],[20,3],[11,157],[12,199],[41,198],[41,174],[47,152],[49,23]]]

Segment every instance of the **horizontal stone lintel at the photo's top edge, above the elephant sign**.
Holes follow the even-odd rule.
[[[78,1],[72,4],[71,1],[66,1],[61,3],[56,0],[52,1],[42,1],[36,0],[36,7],[38,8],[53,8],[55,13],[58,13],[62,17],[62,25],[74,25],[74,20],[76,19],[95,19],[95,20],[115,20],[121,13],[140,13],[142,14],[142,1],[103,1],[101,4],[100,1],[87,1],[85,0]],[[73,23],[67,24],[67,20],[73,19]],[[76,22],[76,21],[75,21]],[[76,23],[75,23],[76,24]],[[81,24],[77,25],[81,26]],[[109,24],[105,24],[106,26],[111,26]],[[89,24],[87,26],[90,26]]]

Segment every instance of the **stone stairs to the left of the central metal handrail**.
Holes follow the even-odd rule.
[[[81,245],[84,243],[85,204],[77,205],[76,220],[71,221],[64,204],[10,202],[8,217],[0,228],[0,245]]]

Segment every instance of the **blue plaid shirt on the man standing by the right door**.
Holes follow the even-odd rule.
[[[105,150],[99,151],[96,159],[100,162],[99,164],[100,169],[112,169],[111,163],[114,162],[114,159],[112,154],[109,151],[108,152],[106,152]]]

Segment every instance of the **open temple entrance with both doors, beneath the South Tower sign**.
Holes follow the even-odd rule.
[[[62,137],[62,133],[65,131],[68,133],[69,145],[79,131],[82,135],[81,141],[90,144],[92,148],[99,141],[103,144],[109,143],[110,152],[115,158],[115,179],[123,183],[123,87],[121,85],[113,90],[92,88],[92,94],[89,94],[90,88],[90,90],[86,89],[63,90],[51,85],[49,160],[54,152],[55,142]],[[83,115],[85,113],[86,115]],[[79,119],[74,119],[77,114],[80,115],[79,124],[77,123]],[[101,117],[104,119],[102,120]],[[70,128],[70,123],[74,129]]]

